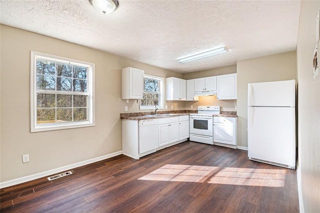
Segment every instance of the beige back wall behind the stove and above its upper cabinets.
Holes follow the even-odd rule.
[[[236,65],[185,73],[183,74],[183,79],[193,79],[230,73],[236,73]],[[196,109],[199,105],[218,105],[221,106],[222,111],[236,111],[236,100],[217,100],[216,95],[201,96],[198,101],[184,102],[185,109],[190,109],[191,105],[193,106],[193,109]]]

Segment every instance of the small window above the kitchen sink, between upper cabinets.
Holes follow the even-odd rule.
[[[140,100],[140,109],[163,108],[163,78],[144,75],[143,99]]]

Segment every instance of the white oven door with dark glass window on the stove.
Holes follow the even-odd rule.
[[[212,136],[212,115],[190,115],[190,133]]]

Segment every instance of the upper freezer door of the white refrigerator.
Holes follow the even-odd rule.
[[[295,80],[248,83],[248,106],[295,106]]]

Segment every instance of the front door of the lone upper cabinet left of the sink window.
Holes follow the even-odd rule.
[[[143,70],[130,67],[129,96],[132,99],[143,99]]]

